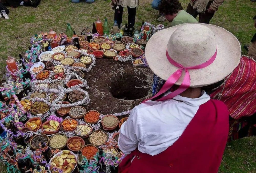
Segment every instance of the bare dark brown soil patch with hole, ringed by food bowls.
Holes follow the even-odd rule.
[[[110,74],[115,64],[120,64],[125,69],[123,75],[118,74],[114,76]],[[117,66],[115,69],[119,69],[121,66]],[[138,99],[132,103],[132,108],[140,104],[141,101],[143,101],[141,98],[148,95],[148,89],[141,88],[143,82],[138,80],[135,76],[139,77],[134,73],[134,67],[130,61],[119,62],[113,59],[97,59],[96,67],[93,67],[90,72],[85,73],[84,77],[90,87],[90,89],[87,90],[90,98],[90,103],[85,106],[87,111],[97,110],[101,114],[122,112],[127,109],[127,105],[130,105],[130,102],[128,103],[120,99]],[[145,79],[146,76],[140,74],[139,78]],[[144,82],[144,85],[145,84]],[[107,95],[103,98],[95,96],[95,86],[98,86],[98,91],[104,92]]]

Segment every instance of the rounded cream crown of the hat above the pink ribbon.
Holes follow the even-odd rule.
[[[184,67],[202,64],[214,55],[217,42],[214,33],[204,25],[187,24],[170,36],[169,56]]]

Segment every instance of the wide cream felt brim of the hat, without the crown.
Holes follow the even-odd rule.
[[[172,33],[183,25],[186,24],[158,31],[150,38],[146,45],[145,57],[150,69],[164,80],[167,80],[171,74],[179,69],[167,60],[166,47]],[[189,70],[190,87],[193,88],[203,87],[221,81],[238,66],[241,57],[240,43],[229,31],[210,24],[198,23],[198,25],[207,26],[214,32],[218,50],[217,57],[212,64],[203,69]],[[202,48],[203,45],[201,47],[199,46],[198,50]],[[182,73],[182,77],[175,83],[176,85],[181,85],[184,75],[185,72]]]

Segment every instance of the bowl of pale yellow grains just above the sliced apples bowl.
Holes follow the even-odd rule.
[[[49,140],[49,146],[54,149],[62,149],[66,146],[68,137],[65,134],[57,133],[52,135]]]

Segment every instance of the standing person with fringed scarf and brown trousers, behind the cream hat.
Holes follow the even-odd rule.
[[[199,15],[199,23],[209,24],[214,13],[224,0],[191,0],[187,12],[193,17]]]

